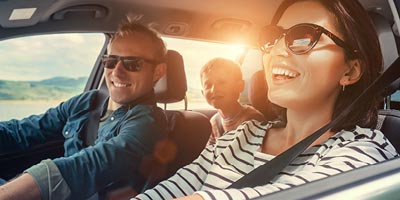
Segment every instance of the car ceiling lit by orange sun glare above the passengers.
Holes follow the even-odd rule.
[[[162,35],[256,46],[282,0],[0,0],[0,40],[50,32],[113,32],[127,15]],[[361,0],[393,22],[387,0]],[[17,8],[28,19],[10,20]],[[16,11],[14,11],[16,12]]]

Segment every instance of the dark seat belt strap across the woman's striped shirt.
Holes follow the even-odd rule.
[[[228,188],[244,188],[255,187],[268,184],[279,172],[288,166],[300,153],[304,152],[316,139],[322,134],[337,125],[345,116],[347,116],[357,105],[364,99],[372,98],[376,95],[381,95],[389,84],[400,77],[400,58],[397,58],[387,70],[383,72],[353,103],[346,107],[337,117],[330,123],[324,125],[313,134],[309,135],[296,145],[292,146],[285,152],[279,154],[269,162],[259,166],[247,175],[241,177],[236,182],[232,183]]]

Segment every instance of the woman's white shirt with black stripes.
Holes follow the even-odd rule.
[[[275,157],[259,151],[272,126],[255,120],[243,123],[215,145],[207,146],[191,164],[136,199],[172,199],[194,193],[206,200],[250,199],[398,156],[380,131],[356,127],[308,148],[267,185],[225,189]]]

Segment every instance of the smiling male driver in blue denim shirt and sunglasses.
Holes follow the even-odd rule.
[[[110,98],[93,146],[84,148],[80,138],[96,91],[43,115],[1,122],[0,152],[64,136],[65,157],[44,160],[1,186],[0,200],[85,199],[112,182],[143,184],[142,161],[166,136],[165,116],[156,107],[153,90],[165,74],[165,56],[165,45],[153,30],[129,22],[119,27],[102,60]]]

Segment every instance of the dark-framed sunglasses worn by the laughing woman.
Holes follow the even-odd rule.
[[[282,27],[274,25],[266,26],[261,31],[259,44],[261,50],[268,54],[276,43],[284,37],[286,48],[292,53],[300,55],[305,54],[314,48],[322,33],[331,38],[336,45],[350,53],[351,57],[355,56],[354,54],[357,50],[349,48],[342,39],[322,26],[309,23],[297,24],[289,29],[283,29]]]

